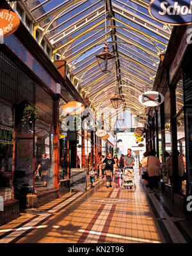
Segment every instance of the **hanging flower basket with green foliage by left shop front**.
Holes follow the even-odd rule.
[[[32,125],[36,120],[38,120],[38,109],[36,109],[36,105],[34,104],[26,104],[22,111],[21,122],[23,126],[28,123]]]

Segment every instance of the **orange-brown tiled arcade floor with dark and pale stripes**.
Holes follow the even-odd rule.
[[[102,179],[86,193],[68,193],[28,210],[0,227],[0,243],[190,242],[185,226],[191,230],[191,222],[186,224],[179,210],[167,213],[170,203],[160,203],[161,194],[148,194],[135,172],[136,188],[106,188]]]

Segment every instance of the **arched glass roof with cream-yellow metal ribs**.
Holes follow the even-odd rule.
[[[118,92],[122,109],[144,111],[138,96],[152,89],[159,54],[166,51],[172,26],[158,23],[148,13],[149,0],[26,0],[35,17],[35,30],[52,44],[67,65],[92,107],[111,108]],[[36,35],[34,34],[36,37]],[[111,73],[102,73],[95,55],[108,42],[115,55]],[[112,68],[112,66],[111,66]]]

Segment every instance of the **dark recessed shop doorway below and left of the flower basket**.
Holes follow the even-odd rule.
[[[15,199],[20,208],[26,208],[26,195],[33,191],[33,125],[21,122],[28,103],[22,100],[15,106]]]

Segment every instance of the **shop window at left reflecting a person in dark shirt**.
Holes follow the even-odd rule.
[[[35,190],[40,192],[54,188],[54,154],[51,125],[35,123]]]

